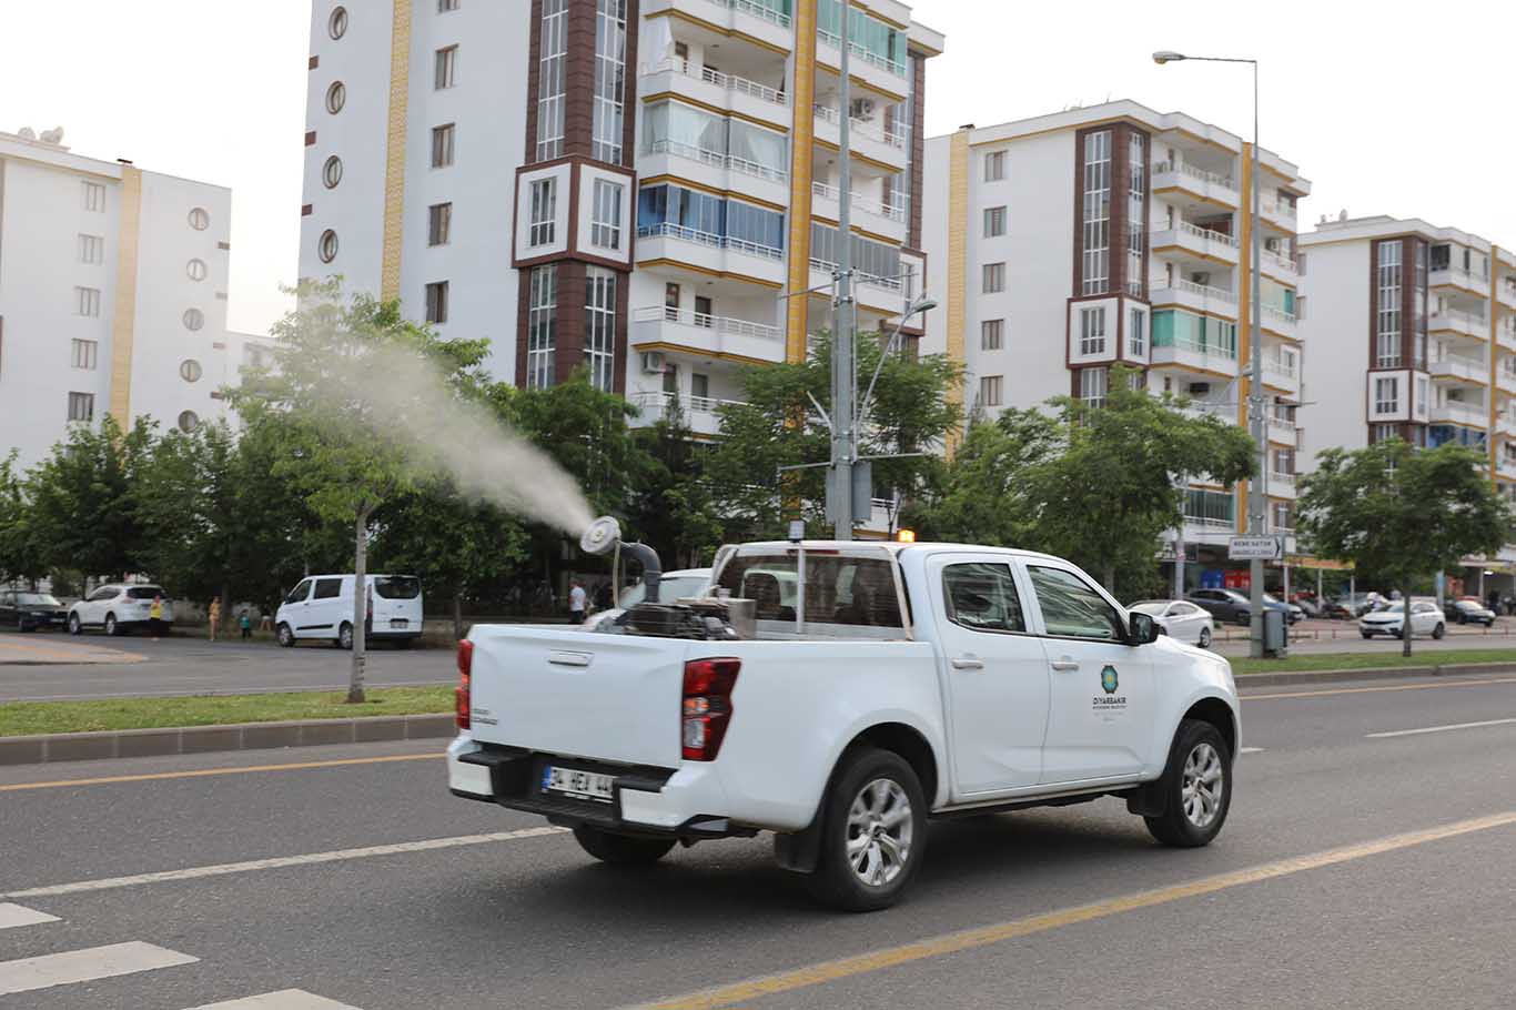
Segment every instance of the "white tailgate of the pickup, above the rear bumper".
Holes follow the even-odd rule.
[[[468,637],[475,740],[679,766],[688,641],[505,625]]]

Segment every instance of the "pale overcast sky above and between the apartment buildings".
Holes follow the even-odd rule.
[[[928,64],[926,126],[935,135],[1132,99],[1246,136],[1246,67],[1157,67],[1149,53],[1255,56],[1263,146],[1314,183],[1302,224],[1346,208],[1516,244],[1516,200],[1492,193],[1516,152],[1505,8],[1319,0],[1270,21],[1255,5],[919,0],[916,18],[948,35]],[[230,325],[267,331],[285,306],[279,285],[296,279],[309,9],[8,3],[0,129],[64,126],[80,155],[230,187]]]

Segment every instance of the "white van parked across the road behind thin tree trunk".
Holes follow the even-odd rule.
[[[414,575],[368,575],[368,641],[394,641],[405,648],[421,637],[421,579]],[[353,576],[311,575],[300,581],[274,616],[279,645],[321,638],[340,649],[353,648]]]

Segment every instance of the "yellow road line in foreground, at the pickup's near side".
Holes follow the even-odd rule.
[[[1143,890],[1122,898],[1111,898],[1110,901],[1079,905],[1076,908],[1064,908],[1061,911],[1029,916],[1026,919],[1013,919],[1010,922],[979,927],[976,930],[964,930],[963,933],[949,933],[946,936],[919,940],[916,943],[905,943],[854,957],[841,957],[832,961],[822,961],[807,968],[781,972],[778,975],[752,978],[732,986],[720,986],[717,989],[706,989],[685,996],[675,996],[672,999],[643,1004],[643,1007],[644,1010],[714,1010],[716,1007],[732,1007],[750,999],[760,999],[763,996],[808,989],[811,986],[820,986],[823,983],[838,981],[854,975],[864,975],[885,968],[897,968],[901,965],[910,965],[931,957],[958,954],[961,951],[990,946],[993,943],[1004,943],[1007,940],[1031,936],[1034,933],[1046,933],[1049,930],[1078,925],[1081,922],[1105,919],[1122,911],[1164,905],[1186,898],[1198,898],[1201,895],[1211,895],[1231,887],[1242,887],[1243,884],[1257,884],[1278,877],[1290,877],[1293,874],[1302,874],[1323,866],[1336,866],[1339,863],[1361,860],[1383,852],[1393,852],[1396,849],[1407,849],[1416,845],[1427,845],[1428,842],[1440,842],[1443,839],[1472,834],[1475,831],[1489,831],[1492,828],[1502,828],[1513,823],[1516,823],[1516,811],[1492,814],[1489,817],[1475,817],[1472,820],[1458,820],[1455,823],[1446,823],[1425,831],[1396,834],[1377,842],[1363,842],[1360,845],[1328,849],[1313,855],[1263,863],[1260,866],[1234,870],[1231,874],[1220,874],[1217,877],[1204,877],[1201,880],[1190,881],[1187,884],[1176,884],[1173,887]]]

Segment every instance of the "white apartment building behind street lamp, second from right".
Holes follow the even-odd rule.
[[[1252,146],[1135,102],[1067,109],[926,141],[923,350],[964,364],[964,406],[993,416],[1052,396],[1099,403],[1111,369],[1246,425]],[[1269,528],[1293,531],[1304,341],[1299,168],[1258,152]],[[1246,488],[1192,482],[1182,543],[1199,563],[1246,529]]]

